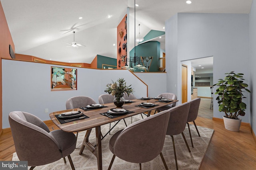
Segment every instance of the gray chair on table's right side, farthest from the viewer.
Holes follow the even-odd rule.
[[[191,140],[191,144],[192,144],[193,148],[194,148],[194,145],[193,145],[193,141],[192,141],[192,137],[191,137],[191,132],[190,132],[190,127],[189,127],[189,123],[188,122],[192,121],[194,123],[196,131],[198,133],[198,136],[200,137],[200,133],[199,133],[199,131],[198,131],[197,127],[196,127],[196,123],[195,123],[195,120],[196,120],[197,115],[198,115],[198,109],[199,109],[200,101],[201,101],[200,98],[196,98],[196,99],[191,100],[189,102],[190,103],[190,107],[189,107],[189,112],[188,112],[187,125],[188,125],[188,131],[189,131],[190,140]]]

